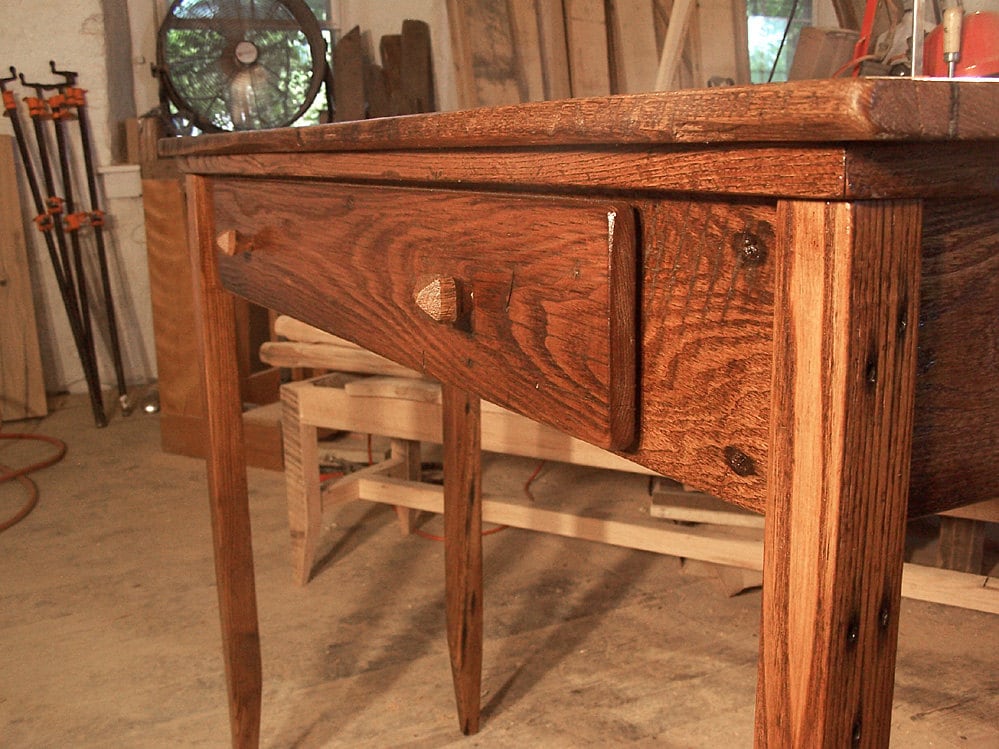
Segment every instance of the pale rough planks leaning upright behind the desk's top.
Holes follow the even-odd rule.
[[[749,82],[745,0],[448,0],[448,17],[462,108]]]

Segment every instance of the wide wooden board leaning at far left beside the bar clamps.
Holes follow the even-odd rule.
[[[25,239],[14,139],[0,135],[0,422],[48,413]]]

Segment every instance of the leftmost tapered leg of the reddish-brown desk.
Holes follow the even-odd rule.
[[[259,743],[261,671],[235,312],[233,299],[222,288],[216,271],[209,184],[202,177],[188,177],[186,186],[198,332],[205,366],[208,490],[222,657],[232,745],[242,749]]]

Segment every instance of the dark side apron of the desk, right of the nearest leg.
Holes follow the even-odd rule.
[[[999,215],[995,200],[924,211],[911,516],[999,497]]]

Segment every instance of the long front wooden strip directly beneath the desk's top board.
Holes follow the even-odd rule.
[[[521,189],[579,193],[658,190],[842,198],[846,194],[844,159],[843,147],[826,145],[794,149],[618,146],[545,149],[540,153],[526,149],[414,151],[405,159],[381,152],[317,153],[308,159],[262,153],[192,157],[185,160],[185,168],[200,174],[419,182],[482,189],[516,184]],[[927,185],[927,189],[933,192],[936,188]],[[953,195],[946,193],[947,197]]]

